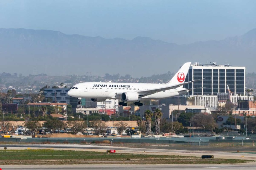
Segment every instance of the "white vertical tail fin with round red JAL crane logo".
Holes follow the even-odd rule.
[[[179,71],[174,75],[171,81],[168,84],[182,84],[185,82],[186,76],[189,71],[189,67],[191,62],[183,64],[183,66],[179,69]]]

